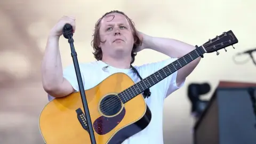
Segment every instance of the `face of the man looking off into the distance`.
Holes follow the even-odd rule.
[[[131,55],[134,39],[129,22],[123,14],[111,13],[100,23],[100,47],[103,55]]]

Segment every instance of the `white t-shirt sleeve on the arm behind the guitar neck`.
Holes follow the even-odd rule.
[[[142,67],[143,67],[144,70],[149,72],[149,75],[151,75],[151,74],[155,73],[157,70],[162,69],[163,67],[169,65],[170,63],[172,63],[175,60],[177,60],[177,58],[169,58],[169,59],[166,59],[166,60],[162,60],[162,61],[158,61],[158,62],[154,62],[154,63],[149,63],[149,64],[144,65]],[[165,95],[163,95],[164,99],[166,97],[168,97],[174,91],[180,89],[184,85],[185,80],[183,82],[181,82],[179,85],[177,84],[177,82],[176,82],[177,74],[178,74],[178,71],[175,71],[173,74],[164,78],[162,80],[162,82],[159,82],[159,83],[161,83],[161,85],[163,85],[161,87],[161,89],[165,92]]]

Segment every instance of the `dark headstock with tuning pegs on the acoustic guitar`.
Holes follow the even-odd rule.
[[[233,46],[233,44],[236,43],[238,43],[238,39],[236,38],[234,33],[231,30],[229,30],[219,36],[216,36],[213,39],[209,39],[209,41],[204,43],[202,46],[204,47],[206,53],[217,52],[218,55],[218,50],[225,49],[225,47],[228,47],[230,45]],[[233,48],[235,49],[234,46]],[[225,51],[227,50],[225,49]]]

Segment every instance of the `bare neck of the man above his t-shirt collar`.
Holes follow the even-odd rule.
[[[102,57],[103,62],[107,63],[109,66],[121,69],[129,69],[131,68],[131,59],[129,58],[111,58],[111,57]]]

